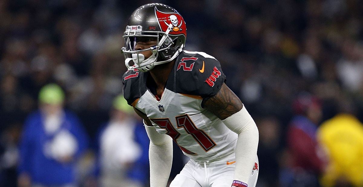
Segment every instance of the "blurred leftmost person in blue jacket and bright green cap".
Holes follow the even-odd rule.
[[[56,84],[41,88],[39,110],[27,117],[21,136],[19,187],[77,186],[77,160],[88,138],[64,99]]]

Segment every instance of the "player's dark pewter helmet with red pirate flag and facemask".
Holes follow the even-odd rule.
[[[142,37],[154,38],[157,45],[137,50],[136,43],[142,41]],[[186,37],[185,21],[174,8],[161,3],[142,5],[131,14],[123,35],[125,65],[129,70],[146,72],[155,65],[170,62],[184,49]],[[151,50],[152,55],[145,59],[140,52],[147,50]]]

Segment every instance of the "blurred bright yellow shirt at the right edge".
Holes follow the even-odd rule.
[[[323,122],[318,140],[330,158],[322,185],[334,186],[337,179],[345,178],[354,186],[363,186],[363,124],[353,115],[339,114]]]

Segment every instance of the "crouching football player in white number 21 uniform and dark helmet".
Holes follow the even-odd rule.
[[[131,14],[123,36],[123,92],[150,138],[150,186],[167,186],[172,140],[191,159],[171,187],[255,186],[257,126],[219,61],[183,50],[186,31],[178,11],[151,3]]]

